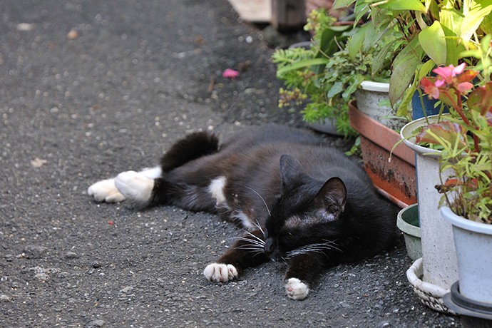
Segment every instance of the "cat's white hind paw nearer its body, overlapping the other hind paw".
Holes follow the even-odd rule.
[[[118,174],[115,178],[115,185],[126,198],[146,203],[152,195],[154,180],[142,173],[127,171]]]

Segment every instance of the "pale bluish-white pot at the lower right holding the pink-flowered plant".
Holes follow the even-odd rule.
[[[492,225],[467,220],[449,207],[440,213],[453,226],[460,294],[492,305]]]

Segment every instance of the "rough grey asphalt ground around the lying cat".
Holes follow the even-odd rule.
[[[86,195],[191,130],[302,125],[263,33],[225,0],[0,1],[1,327],[459,327],[411,291],[403,242],[296,302],[273,263],[205,281],[241,234],[214,215]]]

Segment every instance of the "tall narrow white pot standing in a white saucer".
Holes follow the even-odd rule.
[[[436,122],[438,118],[439,116],[429,116],[428,119]],[[414,263],[412,266],[416,268],[416,265],[421,265],[421,275],[419,276],[417,273],[420,272],[414,269],[407,272],[407,277],[414,289],[424,289],[422,290],[424,294],[431,294],[434,297],[439,303],[437,308],[439,311],[448,312],[442,297],[449,292],[453,282],[458,280],[458,260],[453,243],[452,226],[439,215],[441,194],[434,188],[435,185],[441,184],[440,152],[416,145],[415,137],[412,136],[415,134],[414,131],[423,125],[426,125],[425,118],[411,121],[401,129],[400,133],[405,145],[416,153],[417,198],[422,242],[421,262]],[[443,179],[446,179],[446,173]],[[441,307],[444,307],[444,310]]]

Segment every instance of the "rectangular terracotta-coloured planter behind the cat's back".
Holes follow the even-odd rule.
[[[391,154],[400,135],[349,103],[350,124],[360,133],[364,169],[381,194],[400,207],[417,203],[415,153],[403,143]]]

